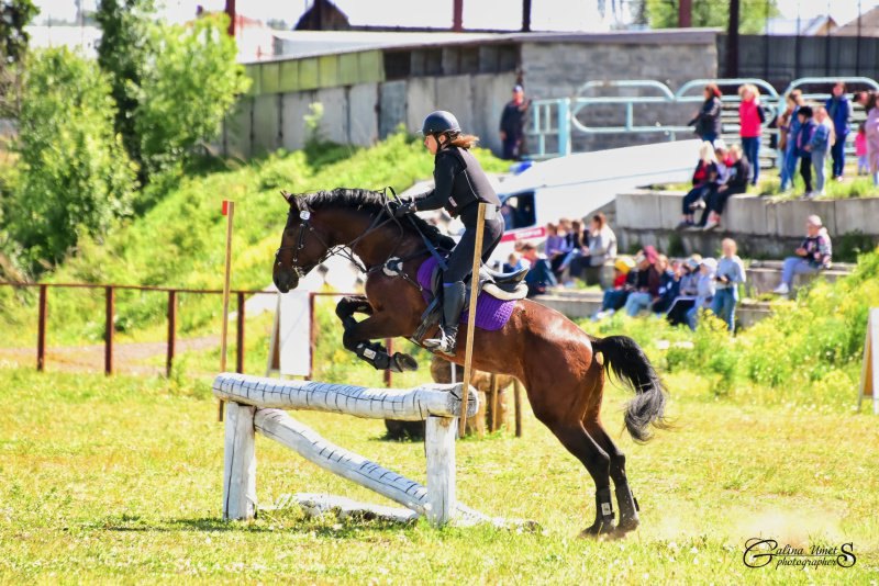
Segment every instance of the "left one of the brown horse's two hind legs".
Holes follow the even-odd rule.
[[[610,457],[587,432],[580,421],[547,424],[565,448],[586,466],[596,483],[596,521],[583,534],[598,536],[614,530],[611,504]]]

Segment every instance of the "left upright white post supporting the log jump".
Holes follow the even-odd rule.
[[[256,515],[256,441],[251,405],[226,404],[223,458],[223,519],[249,520]]]

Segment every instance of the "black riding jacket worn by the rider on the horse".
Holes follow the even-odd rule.
[[[434,189],[413,199],[418,210],[445,207],[460,216],[465,227],[476,226],[477,202],[500,206],[497,193],[488,182],[479,161],[466,148],[446,147],[436,154],[433,169]]]

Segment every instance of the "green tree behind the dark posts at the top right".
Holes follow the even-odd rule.
[[[643,0],[647,22],[653,29],[678,26],[679,0]],[[777,16],[777,0],[742,0],[738,30],[743,34],[759,34],[766,26],[767,16]],[[692,0],[692,25],[727,29],[730,22],[728,0]]]

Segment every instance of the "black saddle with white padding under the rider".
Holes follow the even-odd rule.
[[[528,269],[520,269],[513,272],[499,272],[489,269],[485,264],[479,268],[477,279],[477,295],[486,293],[500,301],[523,300],[528,293],[528,286],[522,280],[527,274]],[[443,271],[437,264],[431,273],[431,294],[432,298],[427,303],[427,308],[421,316],[421,324],[412,335],[412,341],[420,343],[430,331],[439,325],[443,314],[442,295],[438,294],[443,289]],[[464,306],[468,307],[470,295],[472,294],[472,275],[465,280],[467,294],[465,295]]]

